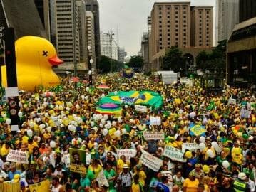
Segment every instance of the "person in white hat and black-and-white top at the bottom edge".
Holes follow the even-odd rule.
[[[123,165],[123,171],[118,176],[118,185],[122,192],[130,192],[133,183],[133,174],[129,171],[128,164]]]

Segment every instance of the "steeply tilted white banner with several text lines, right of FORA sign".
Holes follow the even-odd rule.
[[[160,166],[162,166],[163,161],[161,159],[158,159],[157,157],[149,154],[146,151],[143,151],[143,153],[140,156],[140,161],[145,166],[148,166],[149,169],[152,169],[153,171],[158,171],[160,169]]]

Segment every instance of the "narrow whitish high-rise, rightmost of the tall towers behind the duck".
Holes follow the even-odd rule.
[[[93,12],[86,11],[86,31],[87,31],[87,43],[91,46],[89,55],[93,59],[92,71],[96,70],[96,56],[95,56],[95,35],[94,35],[94,16]]]

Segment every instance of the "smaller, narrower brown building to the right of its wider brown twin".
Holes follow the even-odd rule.
[[[213,46],[213,7],[191,6],[191,46]]]

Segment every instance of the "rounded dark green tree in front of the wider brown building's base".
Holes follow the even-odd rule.
[[[173,70],[174,72],[185,72],[185,58],[176,46],[172,46],[163,57],[162,70]]]

